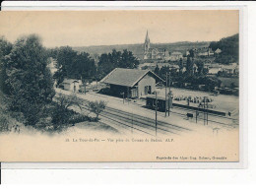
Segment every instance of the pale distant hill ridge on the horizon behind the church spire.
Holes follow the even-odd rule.
[[[171,42],[171,43],[151,43],[152,48],[165,48],[168,51],[180,51],[185,53],[186,50],[192,48],[200,48],[200,47],[208,47],[211,41],[179,41],[179,42]],[[127,49],[132,51],[133,54],[142,59],[144,54],[144,44],[143,43],[135,43],[135,44],[116,44],[116,45],[93,45],[93,46],[75,46],[72,47],[74,50],[79,52],[88,52],[92,55],[94,54],[102,54],[109,53],[112,49],[116,49],[117,51],[122,51],[123,49]]]

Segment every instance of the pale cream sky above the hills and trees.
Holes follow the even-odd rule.
[[[0,35],[14,42],[37,33],[43,45],[90,46],[212,41],[239,32],[237,10],[2,11]]]

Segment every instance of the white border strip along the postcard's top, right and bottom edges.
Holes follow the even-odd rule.
[[[3,11],[79,10],[232,10],[239,9],[239,162],[4,162],[6,169],[80,168],[245,168],[247,167],[247,9],[243,2],[2,2]],[[178,6],[177,6],[178,4]],[[185,5],[185,6],[184,6]],[[212,5],[212,6],[211,6]],[[182,7],[181,7],[182,6]],[[209,7],[211,6],[211,7]],[[242,64],[241,64],[242,63]]]

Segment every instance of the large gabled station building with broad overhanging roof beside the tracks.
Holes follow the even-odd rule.
[[[164,81],[150,70],[115,68],[100,82],[110,86],[113,96],[140,98],[153,94],[156,84]]]

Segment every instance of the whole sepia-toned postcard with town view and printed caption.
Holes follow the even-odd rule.
[[[0,12],[1,161],[239,162],[239,10]]]

